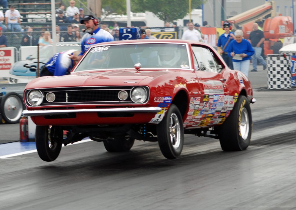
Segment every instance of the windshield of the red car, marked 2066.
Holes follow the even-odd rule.
[[[185,44],[145,43],[93,47],[75,69],[100,70],[114,68],[183,68],[189,69]]]

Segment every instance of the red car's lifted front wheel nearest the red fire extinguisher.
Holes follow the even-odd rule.
[[[36,126],[36,148],[39,157],[46,161],[54,161],[62,148],[63,130],[60,127]]]

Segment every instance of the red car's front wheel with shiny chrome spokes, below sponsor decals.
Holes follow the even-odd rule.
[[[184,143],[184,128],[181,113],[171,104],[163,120],[157,125],[157,138],[160,150],[167,159],[180,156]]]

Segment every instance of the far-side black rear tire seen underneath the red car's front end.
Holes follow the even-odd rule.
[[[104,147],[108,152],[125,152],[133,146],[133,138],[115,138],[112,141],[104,141]]]

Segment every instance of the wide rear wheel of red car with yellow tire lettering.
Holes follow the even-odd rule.
[[[241,151],[250,145],[252,114],[245,96],[239,96],[234,109],[221,127],[218,136],[223,151]]]

